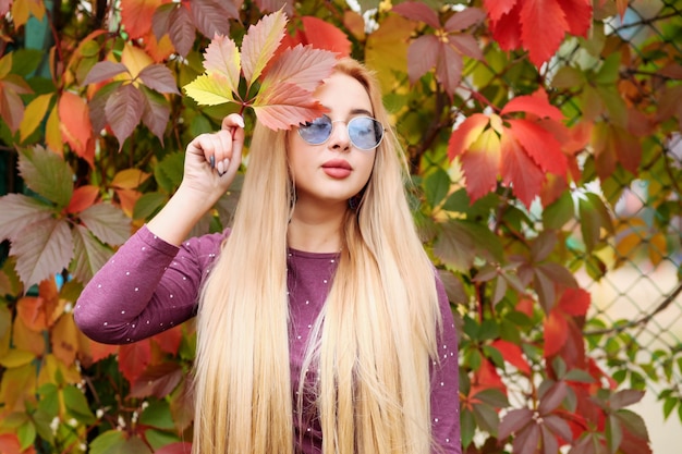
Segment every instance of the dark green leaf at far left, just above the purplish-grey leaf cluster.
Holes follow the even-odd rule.
[[[57,154],[42,147],[20,151],[19,170],[32,191],[64,208],[73,195],[73,172]]]

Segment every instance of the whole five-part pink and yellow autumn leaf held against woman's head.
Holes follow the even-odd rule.
[[[235,102],[242,111],[251,107],[271,130],[319,116],[326,109],[313,91],[331,74],[336,54],[310,46],[277,52],[285,25],[281,10],[266,15],[248,28],[241,52],[232,39],[216,35],[204,53],[206,72],[185,85],[186,94],[199,105]]]

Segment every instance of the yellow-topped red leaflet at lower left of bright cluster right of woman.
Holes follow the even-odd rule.
[[[500,155],[497,133],[486,130],[460,157],[466,176],[466,194],[472,203],[495,189],[500,173]]]

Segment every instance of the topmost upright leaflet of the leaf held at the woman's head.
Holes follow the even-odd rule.
[[[283,10],[264,16],[248,27],[242,40],[242,69],[246,85],[258,78],[284,37],[287,14]]]

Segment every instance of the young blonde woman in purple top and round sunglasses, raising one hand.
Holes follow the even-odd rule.
[[[243,120],[192,140],[76,322],[130,343],[197,316],[195,453],[460,453],[452,314],[377,83],[343,59],[316,97],[312,123],[256,125],[233,226],[187,241],[234,179]]]

